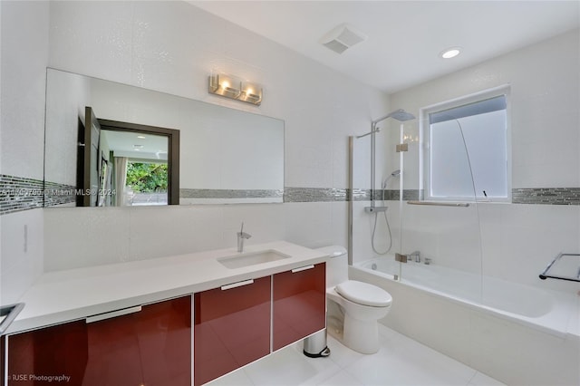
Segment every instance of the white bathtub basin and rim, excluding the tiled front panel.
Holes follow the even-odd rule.
[[[394,256],[384,256],[353,267],[392,280],[399,275],[399,265]],[[415,262],[402,265],[400,283],[559,337],[580,334],[577,295],[572,293]]]

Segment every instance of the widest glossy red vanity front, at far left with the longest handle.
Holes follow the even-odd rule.
[[[189,386],[191,296],[9,335],[8,385]]]

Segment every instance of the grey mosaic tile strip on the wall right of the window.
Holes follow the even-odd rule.
[[[580,205],[580,188],[516,188],[513,204]]]

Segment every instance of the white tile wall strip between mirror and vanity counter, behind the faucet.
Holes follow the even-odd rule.
[[[306,220],[304,220],[306,218]],[[44,210],[44,270],[121,263],[285,239],[346,245],[346,203],[186,207],[52,207]]]

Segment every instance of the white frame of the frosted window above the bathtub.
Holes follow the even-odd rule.
[[[438,111],[445,111],[464,106],[470,103],[477,103],[478,101],[485,101],[498,96],[505,96],[506,98],[506,190],[507,197],[505,198],[478,198],[477,195],[472,198],[465,197],[432,197],[430,196],[430,114]],[[511,147],[511,86],[503,84],[498,87],[474,92],[449,101],[441,101],[429,106],[420,108],[420,189],[423,192],[423,200],[437,201],[437,202],[503,202],[510,203],[512,200],[512,147]],[[475,194],[475,192],[474,192]]]

